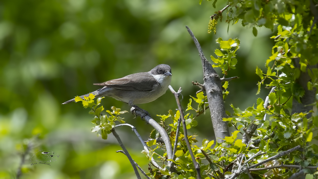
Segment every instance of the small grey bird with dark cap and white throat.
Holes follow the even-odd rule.
[[[95,97],[109,96],[140,109],[135,104],[144,104],[156,100],[166,93],[171,82],[171,68],[161,64],[149,72],[134,73],[119,79],[113,79],[94,85],[104,86],[92,94]],[[80,96],[88,96],[90,93]],[[75,98],[62,104],[75,101]]]

